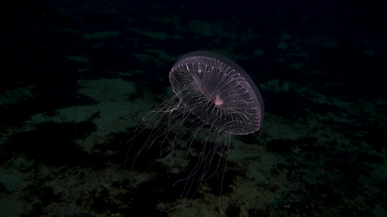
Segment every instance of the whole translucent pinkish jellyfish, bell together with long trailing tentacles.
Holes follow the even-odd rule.
[[[219,166],[219,161],[211,162],[216,153],[228,157],[231,135],[256,132],[264,119],[264,102],[257,86],[238,64],[220,54],[194,51],[183,55],[173,65],[169,80],[175,94],[145,115],[130,140],[130,146],[139,146],[135,153],[129,153],[132,166],[156,143],[160,150],[156,158],[170,158],[171,164],[179,153],[189,154],[204,127],[209,130],[202,150],[198,150],[196,166],[178,181],[185,181],[180,200],[166,211],[182,205],[194,181],[201,183],[213,175],[209,165]],[[147,131],[139,142],[145,129],[151,133]]]

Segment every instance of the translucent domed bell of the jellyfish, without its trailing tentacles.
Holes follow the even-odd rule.
[[[225,56],[187,53],[173,65],[169,79],[185,107],[216,130],[234,135],[259,130],[262,95],[246,71]]]

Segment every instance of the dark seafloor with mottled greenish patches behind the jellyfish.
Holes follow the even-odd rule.
[[[387,216],[382,4],[72,0],[19,7],[9,17],[15,23],[5,20],[12,31],[2,32],[10,40],[3,40],[0,75],[0,217]],[[166,100],[173,63],[196,50],[228,56],[247,71],[265,118],[259,132],[231,138],[224,176],[216,162],[225,154],[218,153],[217,172],[194,183],[181,207],[163,212],[186,192],[183,181],[172,185],[195,166],[206,134],[170,164],[152,164],[156,141],[132,170],[120,163],[142,115],[127,116]]]

